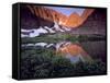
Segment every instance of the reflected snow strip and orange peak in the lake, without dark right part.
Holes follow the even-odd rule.
[[[73,44],[70,42],[61,42],[57,44],[47,44],[47,43],[36,43],[36,44],[25,44],[22,47],[42,47],[42,48],[54,48],[56,56],[61,55],[72,62],[81,61],[91,61],[90,56],[82,49],[79,44]]]

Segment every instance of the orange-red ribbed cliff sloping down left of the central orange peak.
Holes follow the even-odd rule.
[[[59,13],[53,9],[48,9],[45,7],[38,7],[38,5],[26,5],[31,12],[38,17],[42,17],[44,20],[51,21],[51,22],[57,22],[59,21],[65,22],[67,20],[67,16],[63,13]]]

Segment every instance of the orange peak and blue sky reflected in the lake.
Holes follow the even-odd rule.
[[[70,59],[72,62],[81,61],[91,61],[90,56],[82,49],[78,44],[66,43],[62,45],[56,52],[62,54],[66,58]]]

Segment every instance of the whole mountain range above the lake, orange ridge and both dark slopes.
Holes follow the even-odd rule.
[[[106,9],[85,9],[81,15],[64,15],[55,10],[37,5],[21,7],[21,27],[24,29],[40,26],[53,28],[55,23],[72,29],[74,34],[106,34]],[[59,27],[59,26],[58,26]],[[65,28],[65,29],[66,29]]]

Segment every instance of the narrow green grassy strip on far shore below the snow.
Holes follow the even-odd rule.
[[[35,44],[40,42],[44,43],[58,43],[63,40],[68,40],[72,43],[76,42],[86,42],[86,40],[103,40],[105,36],[102,35],[73,35],[73,34],[64,34],[64,33],[57,33],[57,34],[47,34],[47,35],[41,35],[33,38],[22,38],[22,44]]]

